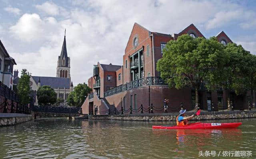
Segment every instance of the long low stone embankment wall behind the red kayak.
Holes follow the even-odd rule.
[[[195,113],[186,112],[186,116],[191,116],[192,114]],[[179,113],[155,113],[140,115],[88,115],[88,120],[176,121],[176,117],[178,115]],[[256,110],[201,112],[199,116],[195,116],[192,120],[221,120],[238,118],[256,118]]]

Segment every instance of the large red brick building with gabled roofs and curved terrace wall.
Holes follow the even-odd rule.
[[[93,89],[93,92],[82,105],[83,113],[89,114],[96,106],[100,112],[106,112],[109,108],[120,110],[121,107],[128,110],[130,106],[137,109],[140,104],[147,108],[151,103],[156,108],[161,108],[164,97],[170,99],[169,107],[172,111],[179,110],[180,102],[185,104],[186,109],[193,109],[195,106],[194,89],[168,88],[156,71],[156,63],[162,58],[166,43],[176,40],[183,34],[194,38],[204,37],[193,24],[180,33],[171,35],[152,32],[135,23],[123,55],[123,66],[111,63],[94,65],[93,77],[88,80],[88,86]],[[218,33],[216,37],[224,45],[232,43],[224,31]],[[199,104],[204,110],[227,108],[228,92],[221,88],[214,92],[202,88],[199,95]],[[232,94],[233,103],[236,103],[235,108],[247,108],[248,96],[250,97],[250,93],[246,96]]]

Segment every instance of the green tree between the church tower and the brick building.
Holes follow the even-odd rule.
[[[88,87],[87,84],[79,83],[77,86],[75,86],[74,91],[68,95],[67,102],[70,106],[81,107],[87,94],[89,94],[91,91],[92,89]]]

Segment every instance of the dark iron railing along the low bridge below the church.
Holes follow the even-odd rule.
[[[61,106],[32,106],[34,112],[81,114],[81,108],[70,108]]]

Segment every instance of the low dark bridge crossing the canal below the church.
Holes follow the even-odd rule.
[[[81,114],[81,108],[61,106],[32,106],[31,110],[34,118],[72,118]]]

